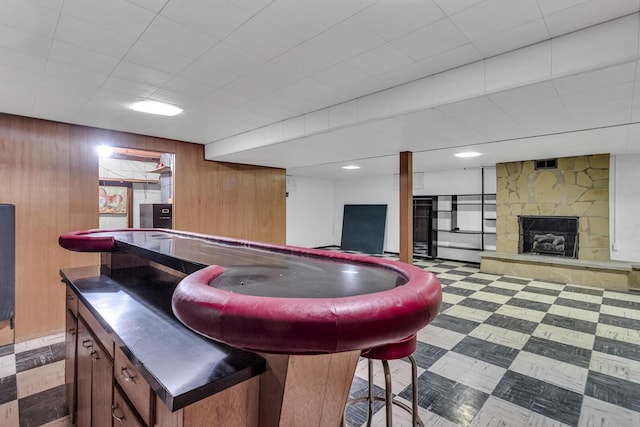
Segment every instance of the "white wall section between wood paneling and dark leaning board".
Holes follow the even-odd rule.
[[[333,240],[333,180],[287,177],[287,244],[316,248]]]

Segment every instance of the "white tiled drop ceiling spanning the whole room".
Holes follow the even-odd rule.
[[[210,147],[633,21],[635,40],[620,43],[635,43],[635,57],[573,64],[578,71],[567,75],[211,158],[341,178],[395,173],[405,150],[420,171],[640,152],[640,0],[2,0],[0,9],[1,112]],[[184,112],[168,118],[128,108],[145,99]],[[483,156],[453,157],[465,148]],[[362,168],[340,169],[347,163]]]

